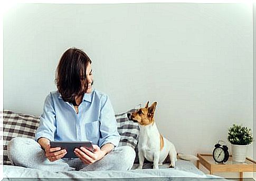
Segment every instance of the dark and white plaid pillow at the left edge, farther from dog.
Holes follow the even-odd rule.
[[[14,137],[32,138],[35,137],[35,131],[39,126],[40,117],[27,114],[17,114],[11,110],[4,110],[3,114],[3,162],[1,164],[11,165],[7,157],[7,145]]]

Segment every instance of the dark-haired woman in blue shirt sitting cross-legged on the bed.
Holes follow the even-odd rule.
[[[54,170],[127,170],[135,151],[117,147],[120,135],[109,97],[92,88],[90,58],[77,48],[62,55],[56,69],[58,91],[50,92],[44,102],[35,140],[14,138],[8,145],[8,157],[14,165]],[[51,148],[50,141],[86,141],[94,153],[75,149],[78,158],[63,158],[67,152]],[[29,153],[29,154],[27,154]]]

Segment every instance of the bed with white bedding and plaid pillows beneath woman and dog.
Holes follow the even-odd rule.
[[[133,112],[135,109],[130,109],[128,112]],[[130,122],[127,118],[127,113],[116,114],[118,132],[121,135],[119,146],[128,145],[137,152],[139,127],[137,123]],[[152,163],[145,162],[143,169],[138,167],[138,156],[135,158],[134,166],[127,171],[97,171],[97,172],[49,172],[45,170],[25,168],[14,166],[7,157],[7,145],[13,137],[34,138],[35,130],[39,126],[39,116],[17,114],[11,110],[3,112],[3,177],[4,180],[56,180],[56,179],[75,179],[75,180],[198,180],[198,179],[218,179],[226,180],[222,177],[207,175],[197,169],[192,162],[178,159],[175,168],[168,168],[169,164],[164,163],[159,166],[159,169],[152,169]]]

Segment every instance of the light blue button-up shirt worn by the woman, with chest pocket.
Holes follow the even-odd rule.
[[[35,133],[36,140],[40,137],[52,141],[91,141],[99,147],[106,143],[117,146],[120,140],[109,97],[96,89],[84,94],[78,114],[58,91],[50,92]]]

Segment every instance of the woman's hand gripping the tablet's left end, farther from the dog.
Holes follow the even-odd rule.
[[[58,152],[56,152],[58,151]],[[45,148],[45,156],[51,161],[54,162],[55,160],[61,159],[62,157],[67,154],[67,151],[65,149],[62,149],[60,147],[51,148],[50,144],[46,146]]]

